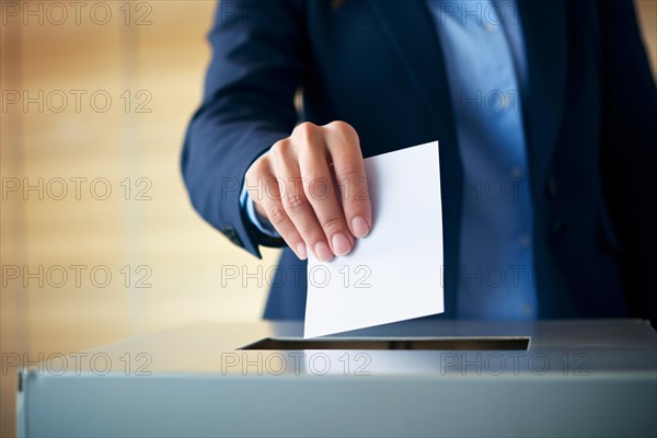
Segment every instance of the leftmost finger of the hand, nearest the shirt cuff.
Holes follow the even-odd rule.
[[[247,187],[257,187],[258,181],[266,187],[264,196],[262,193],[252,193],[251,189],[249,194],[254,203],[262,207],[269,222],[272,222],[288,246],[297,254],[297,257],[306,260],[308,257],[306,243],[299,231],[297,231],[297,227],[285,211],[278,180],[272,172],[268,160],[256,161],[249,169],[249,172],[246,172],[246,181]]]

